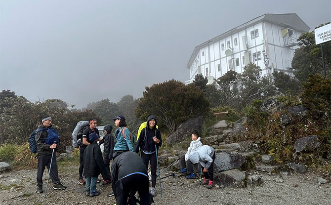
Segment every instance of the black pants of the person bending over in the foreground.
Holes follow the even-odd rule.
[[[122,187],[121,187],[122,181]],[[149,195],[149,180],[142,174],[133,174],[115,183],[115,198],[117,205],[126,205],[130,192],[138,192],[141,205],[151,205]]]

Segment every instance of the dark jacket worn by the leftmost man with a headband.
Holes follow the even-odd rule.
[[[52,149],[50,149],[50,145],[45,143],[45,139],[47,138],[47,128],[51,128],[52,125],[49,127],[45,127],[42,125],[42,123],[38,126],[37,129],[44,129],[35,135],[36,143],[37,143],[37,156],[42,156],[42,155],[51,155],[52,154]],[[58,151],[58,146],[55,148],[55,152]]]

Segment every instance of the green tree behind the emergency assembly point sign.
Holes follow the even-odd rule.
[[[330,22],[326,23],[329,24]],[[315,29],[324,26],[321,24]],[[324,76],[322,63],[321,46],[315,44],[314,31],[301,34],[298,38],[300,48],[295,50],[292,68],[295,70],[294,75],[300,82],[305,82],[309,74],[321,74]],[[323,43],[323,53],[327,77],[331,77],[331,42]]]

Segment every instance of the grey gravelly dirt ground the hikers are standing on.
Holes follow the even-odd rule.
[[[78,166],[59,167],[61,182],[66,190],[53,190],[48,185],[47,197],[36,194],[36,169],[12,170],[0,175],[1,205],[113,205],[114,197],[108,197],[111,185],[97,184],[98,197],[85,197],[84,187],[77,184]],[[47,171],[44,172],[44,187]],[[165,173],[164,175],[167,175]],[[317,176],[260,174],[264,183],[256,188],[215,187],[208,190],[194,180],[183,176],[162,179],[163,200],[157,183],[156,205],[331,205],[331,183],[319,185]],[[14,187],[14,188],[12,188]]]

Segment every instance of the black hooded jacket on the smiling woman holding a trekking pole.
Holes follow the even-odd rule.
[[[149,121],[154,119],[155,125],[152,129],[149,128]],[[146,127],[141,130],[139,139],[137,141],[136,148],[134,149],[134,152],[138,153],[139,149],[141,151],[146,152],[154,152],[155,151],[155,144],[157,146],[157,149],[159,150],[159,147],[162,145],[162,138],[161,138],[161,132],[158,128],[156,128],[157,120],[155,116],[151,115],[147,119]],[[160,140],[159,143],[155,143],[153,141],[153,137],[156,136]]]

